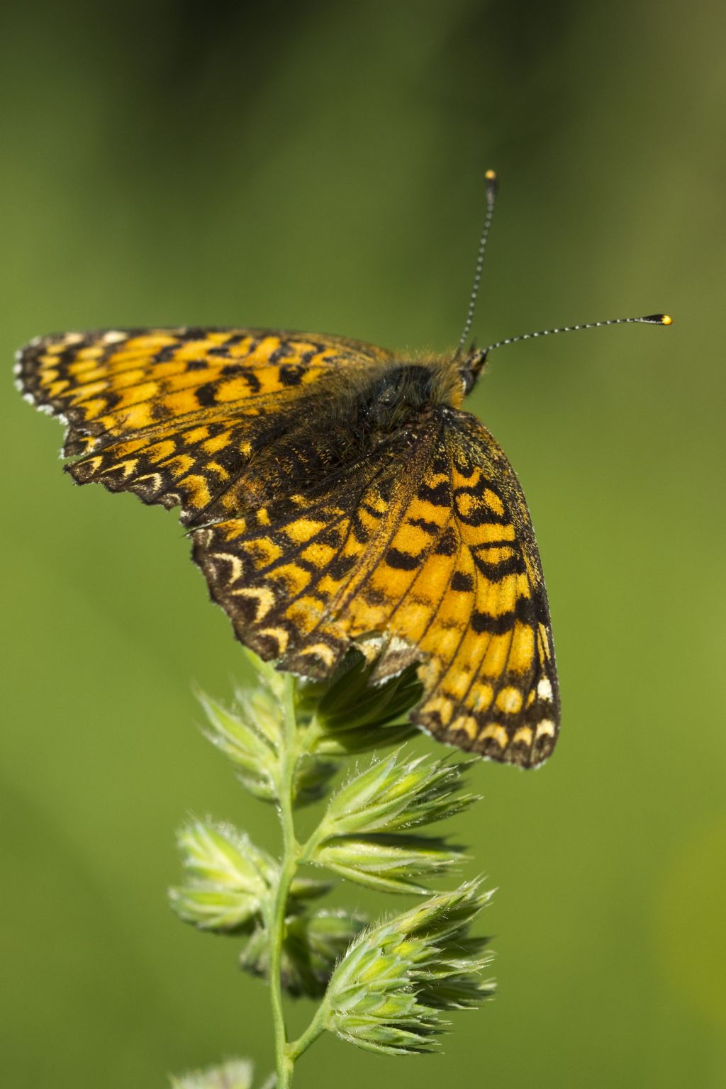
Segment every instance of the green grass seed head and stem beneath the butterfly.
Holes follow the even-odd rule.
[[[331,795],[346,756],[399,744],[411,732],[405,714],[420,696],[415,673],[376,684],[376,662],[355,651],[323,684],[249,659],[258,684],[237,693],[233,709],[204,695],[200,702],[207,736],[241,783],[276,805],[282,854],[273,859],[229,824],[193,820],[179,835],[185,880],[170,891],[172,907],[201,930],[245,935],[241,967],[270,984],[279,1089],[323,1031],[387,1054],[430,1051],[448,1027],[444,1013],[471,1008],[492,993],[482,980],[487,939],[469,934],[490,894],[479,882],[433,893],[431,882],[465,856],[420,831],[477,800],[464,786],[471,761],[411,758],[397,748],[356,767]],[[316,828],[298,842],[294,811],[324,797]],[[311,877],[306,866],[330,878]],[[429,898],[371,925],[357,913],[315,905],[341,878]],[[293,1042],[284,1029],[283,990],[319,1002]],[[237,1089],[249,1084],[239,1080],[248,1073],[232,1064],[175,1085]]]

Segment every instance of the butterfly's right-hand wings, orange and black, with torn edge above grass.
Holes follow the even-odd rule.
[[[372,639],[379,677],[422,661],[413,719],[434,736],[524,767],[552,751],[537,543],[514,470],[473,416],[447,408],[405,450],[383,444],[318,493],[194,536],[212,597],[263,658],[324,676],[352,640]]]

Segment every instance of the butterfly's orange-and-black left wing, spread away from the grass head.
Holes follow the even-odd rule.
[[[194,523],[238,511],[238,478],[293,415],[383,348],[339,337],[256,329],[63,333],[19,354],[21,391],[69,425],[78,484],[181,504]],[[340,378],[339,378],[340,380]]]

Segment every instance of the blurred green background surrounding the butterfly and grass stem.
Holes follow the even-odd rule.
[[[209,323],[444,350],[494,167],[480,342],[675,323],[493,356],[472,407],[530,503],[564,710],[554,758],[477,767],[456,825],[499,886],[499,996],[443,1059],[325,1039],[296,1085],[725,1085],[723,7],[71,0],[0,23],[3,1082],[267,1072],[264,989],[165,888],[188,812],[275,843],[196,729],[192,683],[229,696],[242,656],[179,525],[72,486],[14,348]]]

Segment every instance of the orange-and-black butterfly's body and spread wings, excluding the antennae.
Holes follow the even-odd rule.
[[[485,358],[341,337],[132,329],[41,337],[26,399],[64,420],[77,484],[181,509],[237,638],[325,677],[418,662],[413,721],[529,768],[554,748],[547,599],[519,482],[463,408]]]

